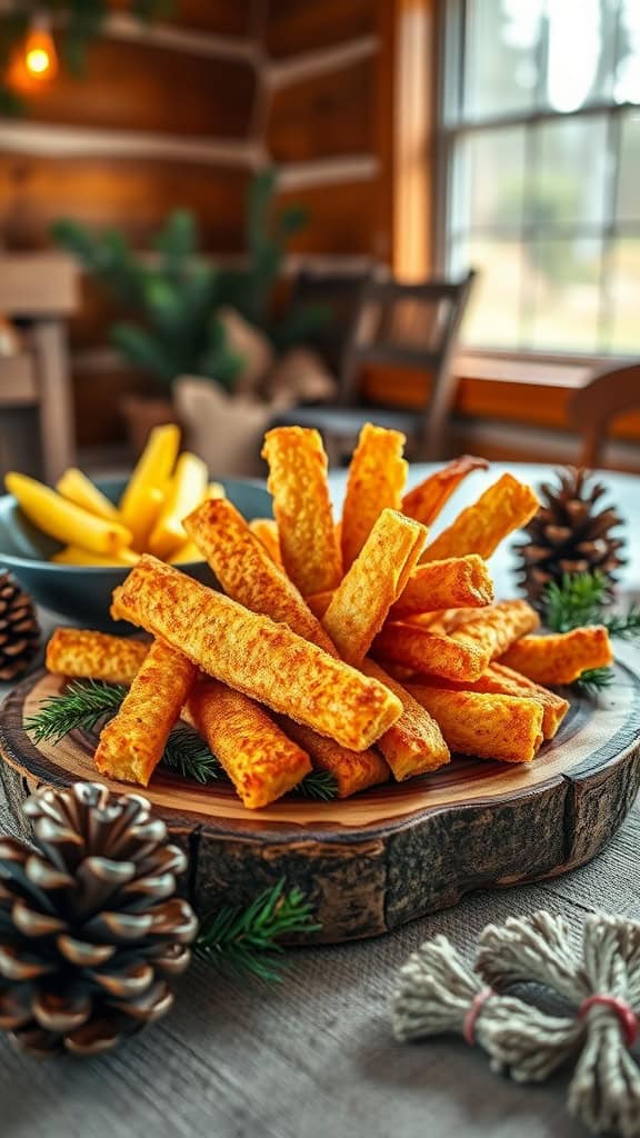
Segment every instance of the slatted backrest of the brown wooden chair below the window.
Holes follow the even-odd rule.
[[[425,439],[435,440],[456,394],[451,357],[475,275],[470,270],[458,282],[429,280],[417,284],[370,281],[347,352],[340,402],[347,406],[356,403],[359,373],[366,364],[428,372],[430,394],[425,395],[421,413]]]

